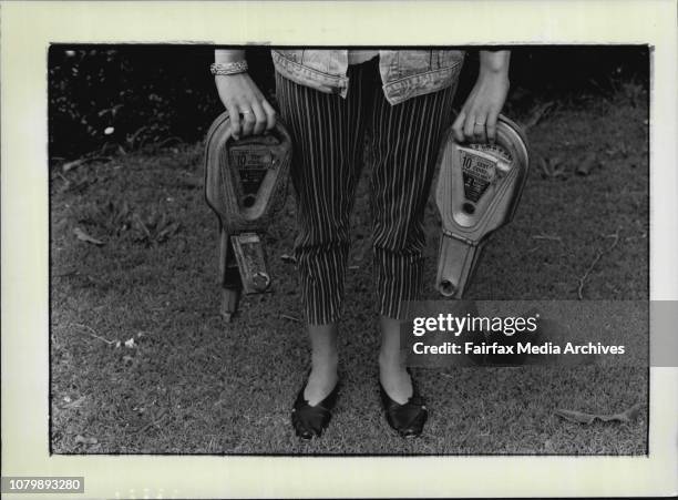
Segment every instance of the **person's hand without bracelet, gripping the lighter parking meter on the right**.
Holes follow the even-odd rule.
[[[452,125],[458,142],[490,142],[496,137],[496,120],[508,93],[506,72],[479,75],[471,94]]]

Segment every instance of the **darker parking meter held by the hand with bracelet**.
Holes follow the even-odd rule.
[[[228,112],[207,132],[205,198],[219,221],[222,315],[230,320],[240,293],[268,292],[263,236],[287,194],[291,137],[279,120],[263,135],[234,140]]]

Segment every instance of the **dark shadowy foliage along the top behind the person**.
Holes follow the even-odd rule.
[[[53,162],[157,149],[203,137],[222,111],[208,72],[214,47],[52,45],[49,51],[49,146]],[[548,95],[607,98],[622,81],[648,86],[646,47],[513,48],[510,105]],[[248,48],[250,74],[274,100],[269,49]],[[476,51],[460,82],[473,84]]]

